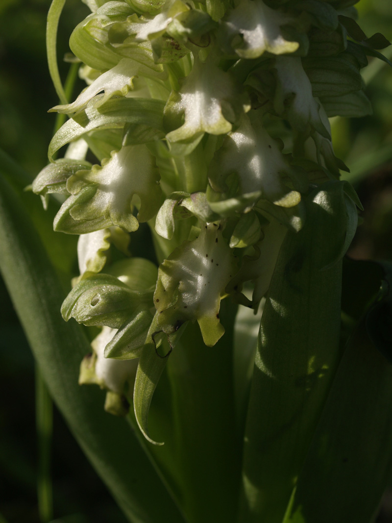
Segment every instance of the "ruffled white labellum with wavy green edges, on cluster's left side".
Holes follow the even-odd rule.
[[[57,213],[56,230],[86,233],[118,225],[135,231],[139,221],[151,219],[162,198],[153,156],[144,145],[129,145],[113,152],[110,160],[68,178],[72,194]],[[131,203],[139,197],[137,219]]]

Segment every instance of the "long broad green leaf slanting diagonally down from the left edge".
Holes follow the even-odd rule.
[[[185,519],[137,435],[102,409],[101,392],[77,384],[89,344],[76,323],[65,323],[63,290],[31,219],[1,179],[0,266],[51,395],[76,440],[133,523],[155,523],[164,513]],[[23,285],[21,285],[23,281]],[[110,441],[116,445],[108,445]]]

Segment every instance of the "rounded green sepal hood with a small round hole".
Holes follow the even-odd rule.
[[[118,278],[97,274],[79,281],[65,298],[61,314],[84,325],[120,328],[140,305],[152,306],[152,292],[133,291]]]

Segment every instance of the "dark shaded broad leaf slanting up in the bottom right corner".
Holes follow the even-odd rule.
[[[386,298],[390,348],[390,293]],[[392,366],[372,341],[362,320],[344,350],[284,523],[368,523],[376,516],[392,472]]]

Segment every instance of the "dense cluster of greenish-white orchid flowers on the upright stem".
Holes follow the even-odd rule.
[[[332,210],[345,202],[338,253],[352,237],[355,194],[339,181],[328,117],[370,111],[360,70],[385,42],[362,38],[355,0],[86,3],[70,47],[88,86],[51,109],[70,119],[50,159],[71,146],[33,190],[44,202],[63,195],[54,228],[80,234],[80,277],[62,313],[103,326],[80,380],[108,389],[108,409],[121,413],[135,368],[113,358],[139,357],[162,343],[158,332],[171,349],[194,321],[214,345],[224,298],[257,309],[309,191],[326,184]],[[142,222],[158,269],[129,255]]]

